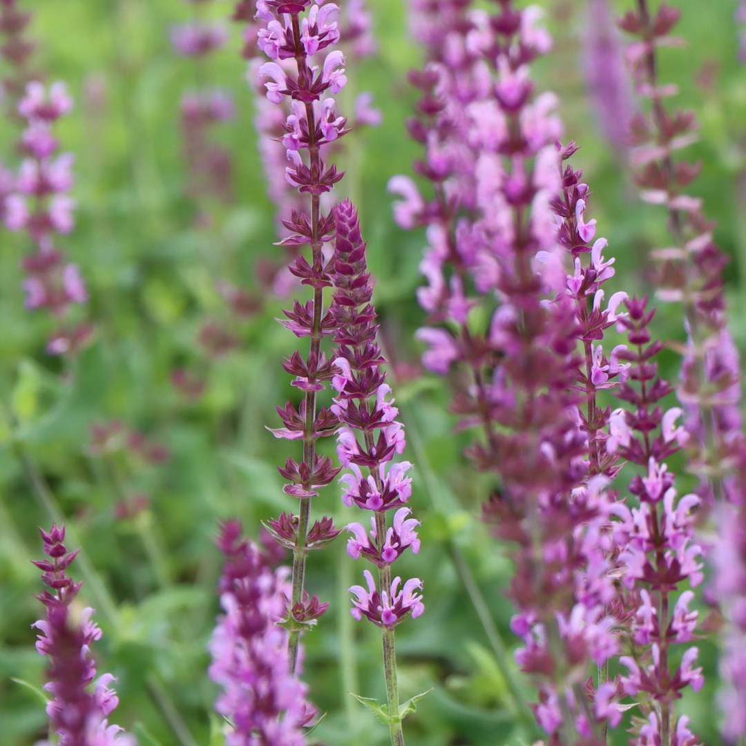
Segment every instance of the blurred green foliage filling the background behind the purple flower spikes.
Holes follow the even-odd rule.
[[[339,160],[351,173],[339,191],[351,190],[359,202],[386,353],[414,364],[419,350],[413,330],[423,318],[414,290],[424,236],[395,227],[385,186],[392,175],[410,173],[419,157],[404,120],[416,100],[405,75],[419,64],[420,53],[407,38],[401,1],[368,1],[380,51],[350,66],[348,75],[357,90],[374,92],[384,123],[349,138]],[[275,471],[288,455],[288,444],[272,438],[264,425],[276,425],[275,404],[293,396],[279,360],[292,351],[295,337],[272,321],[280,315],[278,301],[239,323],[229,318],[214,289],[219,278],[257,286],[257,258],[278,252],[272,246],[273,211],[257,157],[238,29],[209,67],[213,84],[233,90],[239,111],[233,122],[214,131],[233,154],[235,199],[210,205],[212,224],[199,227],[197,206],[184,195],[178,127],[178,101],[195,84],[195,66],[175,56],[167,37],[170,24],[189,16],[189,5],[181,0],[22,4],[35,13],[31,34],[39,43],[37,66],[47,71],[48,81],[68,81],[77,103],[59,125],[63,148],[77,159],[79,201],[78,226],[61,245],[87,278],[96,331],[74,365],[62,366],[44,353],[50,322],[43,313],[24,310],[20,289],[19,261],[31,247],[24,237],[3,232],[0,744],[28,745],[45,733],[43,704],[12,679],[43,683],[45,661],[34,651],[29,626],[41,614],[32,596],[41,586],[28,560],[40,557],[37,526],[48,527],[63,514],[74,530],[69,545],[80,542],[90,560],[89,566],[78,561],[75,571],[86,577],[81,596],[98,609],[104,630],[95,650],[99,671],[119,678],[121,704],[113,720],[145,745],[217,745],[219,723],[210,715],[216,689],[205,674],[205,644],[217,612],[216,523],[238,516],[255,534],[260,519],[293,508]],[[583,145],[573,163],[582,166],[595,192],[589,215],[598,219],[599,234],[608,236],[610,253],[617,257],[613,289],[649,292],[647,251],[666,245],[665,222],[659,209],[637,200],[599,136],[583,87],[583,2],[541,4],[556,48],[536,66],[538,86],[560,94],[568,138]],[[629,4],[620,2],[618,8]],[[702,122],[695,149],[703,174],[695,189],[718,220],[719,244],[733,257],[728,270],[733,328],[744,348],[746,242],[739,214],[746,214],[746,69],[736,62],[735,1],[677,4],[683,7],[679,31],[688,46],[662,52],[662,79],[680,85],[680,104],[693,107]],[[231,2],[213,5],[216,16],[230,13]],[[698,76],[706,66],[715,71],[714,84]],[[0,123],[1,153],[11,166],[19,160],[18,134],[16,125]],[[207,357],[196,342],[209,319],[231,324],[241,340],[219,360]],[[681,335],[675,307],[662,310],[656,323],[664,338]],[[675,360],[666,360],[674,376]],[[170,381],[172,369],[184,365],[207,377],[207,390],[195,401]],[[410,697],[434,687],[407,719],[408,742],[526,742],[530,736],[518,724],[507,682],[453,561],[455,548],[471,568],[506,645],[514,648],[507,627],[512,611],[501,595],[510,562],[478,521],[489,480],[475,477],[461,455],[468,434],[454,434],[442,380],[430,375],[401,380],[396,393],[407,424],[408,457],[416,462],[412,507],[421,518],[423,540],[421,553],[405,554],[399,571],[423,578],[427,604],[419,620],[399,628],[401,689]],[[105,458],[92,455],[91,425],[113,419],[166,445],[170,459],[152,464],[124,450]],[[117,518],[116,504],[140,493],[150,497],[148,510],[134,519]],[[342,523],[350,519],[334,488],[322,494],[314,510]],[[346,558],[342,541],[310,560],[308,586],[331,606],[307,638],[305,675],[313,700],[328,712],[316,735],[330,746],[373,746],[388,738],[386,729],[346,694],[383,695],[377,630],[351,621],[344,592],[358,582],[362,569],[363,560]],[[705,640],[700,648],[706,689],[685,698],[680,710],[690,715],[706,743],[715,744],[715,646]],[[530,698],[510,651],[507,665]],[[615,738],[624,742],[624,732]]]

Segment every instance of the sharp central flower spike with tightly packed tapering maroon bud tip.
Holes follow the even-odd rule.
[[[366,570],[367,589],[352,586],[352,615],[369,618],[380,627],[383,639],[383,667],[386,677],[386,712],[399,712],[398,680],[394,629],[408,617],[417,618],[424,611],[419,578],[401,583],[392,580],[392,562],[410,548],[419,551],[415,528],[419,521],[407,518],[412,511],[404,504],[412,494],[409,461],[393,462],[395,454],[404,453],[404,427],[396,421],[399,410],[393,399],[387,400],[391,387],[380,366],[386,361],[376,343],[377,325],[371,304],[373,285],[366,268],[366,244],[360,234],[357,210],[349,200],[333,210],[335,225],[332,313],[336,321],[337,343],[333,365],[336,375],[332,386],[336,397],[332,407],[342,427],[337,434],[336,452],[342,466],[349,471],[340,481],[345,484],[342,501],[371,511],[371,530],[360,523],[345,529],[352,534],[348,554],[361,555],[377,567],[378,583]],[[365,474],[363,473],[365,469]],[[386,513],[395,510],[392,524]],[[392,746],[403,746],[401,717],[389,721]]]

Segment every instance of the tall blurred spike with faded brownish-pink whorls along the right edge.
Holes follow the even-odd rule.
[[[657,77],[658,50],[678,43],[670,34],[679,16],[680,10],[665,3],[653,16],[648,1],[638,0],[636,10],[628,11],[620,25],[636,37],[627,47],[627,64],[637,93],[649,101],[647,113],[639,113],[630,122],[633,175],[642,199],[665,207],[671,234],[672,245],[651,252],[658,264],[656,294],[662,301],[683,305],[686,343],[671,346],[682,354],[677,396],[689,435],[687,470],[700,478],[701,512],[718,503],[715,520],[734,558],[729,566],[716,555],[715,569],[725,575],[715,577],[714,585],[727,619],[721,653],[723,733],[736,741],[746,736],[746,662],[739,647],[746,632],[742,612],[746,588],[745,583],[733,581],[734,568],[739,567],[736,558],[742,557],[739,532],[745,521],[737,513],[746,510],[741,366],[727,327],[723,278],[727,257],[712,240],[713,224],[703,214],[701,198],[684,192],[697,177],[699,166],[674,158],[676,151],[698,139],[698,122],[692,111],[668,110],[665,99],[677,93],[677,88],[662,84]]]

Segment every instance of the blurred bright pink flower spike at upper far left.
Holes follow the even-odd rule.
[[[27,157],[16,178],[16,191],[6,198],[4,209],[6,228],[26,231],[38,249],[23,260],[27,275],[23,289],[28,309],[46,308],[57,322],[47,345],[51,355],[78,351],[91,333],[86,323],[63,323],[72,304],[84,304],[88,294],[78,265],[69,263],[54,246],[57,234],[69,233],[75,226],[75,200],[67,193],[73,184],[75,158],[70,153],[54,155],[58,142],[51,131],[71,108],[64,83],[54,83],[47,90],[31,81],[26,87],[18,111],[28,124],[21,140]]]

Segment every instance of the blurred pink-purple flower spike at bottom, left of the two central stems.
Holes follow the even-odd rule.
[[[207,646],[208,674],[223,689],[215,709],[231,724],[226,743],[304,746],[303,728],[316,709],[306,700],[307,686],[292,674],[289,633],[277,624],[286,612],[289,568],[273,570],[271,549],[244,539],[237,521],[223,524],[218,545],[225,555],[224,613]]]

